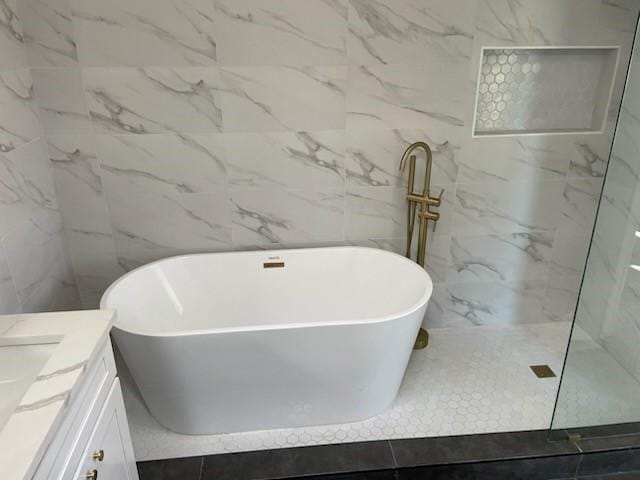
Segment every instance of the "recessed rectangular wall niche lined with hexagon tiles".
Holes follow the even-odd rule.
[[[599,132],[618,47],[483,48],[474,136]]]

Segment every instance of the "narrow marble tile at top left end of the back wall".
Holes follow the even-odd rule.
[[[20,0],[30,67],[78,64],[70,0]]]

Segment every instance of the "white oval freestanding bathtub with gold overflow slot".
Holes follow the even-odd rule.
[[[353,422],[396,396],[433,286],[361,247],[185,255],[101,300],[152,415],[213,434]]]

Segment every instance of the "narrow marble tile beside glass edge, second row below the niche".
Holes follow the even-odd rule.
[[[560,231],[577,237],[588,237],[596,219],[602,179],[569,179],[562,193]]]

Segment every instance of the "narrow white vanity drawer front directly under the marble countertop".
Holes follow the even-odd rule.
[[[111,342],[107,341],[102,353],[89,366],[87,377],[69,405],[66,417],[49,444],[34,480],[59,480],[65,471],[75,471],[115,378],[113,350]]]

